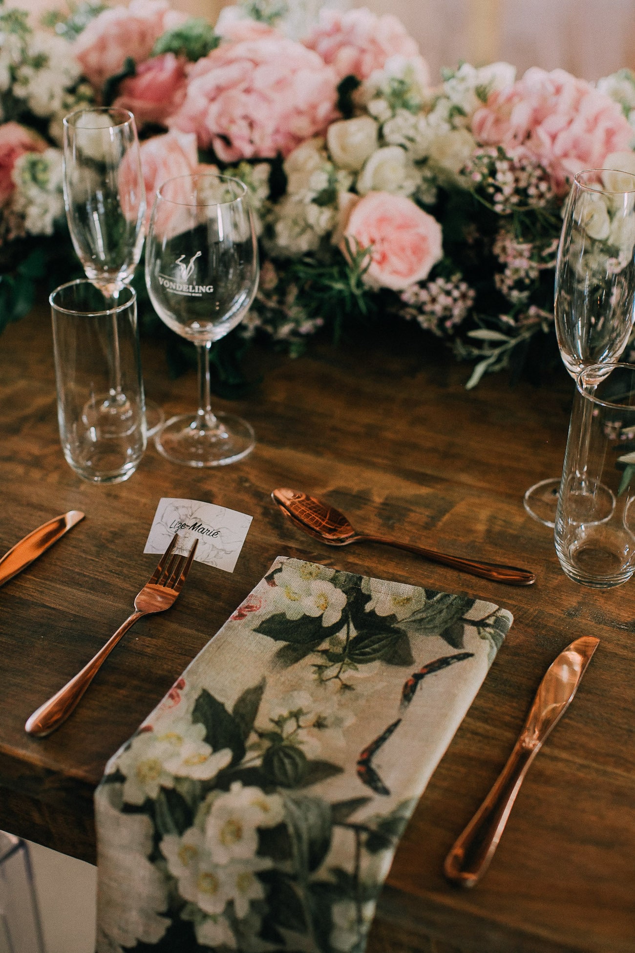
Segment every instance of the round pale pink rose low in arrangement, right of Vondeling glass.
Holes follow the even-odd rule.
[[[371,248],[365,280],[375,288],[402,291],[423,281],[443,255],[441,226],[404,195],[367,193],[350,213],[344,237],[353,248]]]

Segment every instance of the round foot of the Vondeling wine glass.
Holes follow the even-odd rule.
[[[156,449],[172,463],[187,467],[222,467],[247,456],[255,436],[247,420],[233,414],[217,414],[215,428],[201,428],[196,414],[181,414],[154,437]]]

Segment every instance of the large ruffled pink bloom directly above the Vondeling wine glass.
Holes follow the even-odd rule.
[[[224,162],[288,155],[335,116],[337,79],[317,53],[270,31],[229,41],[189,71],[169,126],[196,132]]]

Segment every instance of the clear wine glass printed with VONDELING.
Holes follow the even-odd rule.
[[[181,175],[156,194],[146,247],[146,284],[157,314],[196,345],[199,407],[171,417],[155,437],[175,463],[213,467],[247,456],[253,430],[240,417],[211,412],[209,350],[248,312],[258,287],[258,244],[242,182]]]

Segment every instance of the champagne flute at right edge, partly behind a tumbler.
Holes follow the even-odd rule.
[[[566,370],[608,368],[625,351],[635,321],[635,175],[578,172],[566,199],[556,262],[555,322]],[[598,383],[602,377],[598,378]],[[527,513],[554,526],[560,477],[524,497]]]

